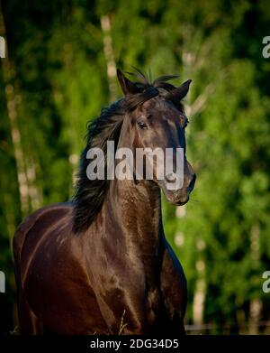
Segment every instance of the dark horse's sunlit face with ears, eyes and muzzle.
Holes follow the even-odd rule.
[[[121,77],[122,79],[122,77]],[[124,78],[125,86],[121,81],[121,87],[125,92],[127,84],[129,89],[132,90],[126,94],[127,99],[130,95],[136,94],[136,88],[131,88],[131,82]],[[158,88],[158,95],[153,98],[149,98],[144,103],[130,111],[130,114],[126,116],[130,130],[130,139],[133,151],[136,148],[150,148],[152,151],[159,148],[163,151],[166,156],[166,149],[170,148],[173,151],[173,172],[166,173],[166,161],[163,165],[164,168],[164,179],[157,179],[157,159],[154,158],[153,165],[153,181],[164,191],[166,199],[175,205],[184,205],[189,200],[189,195],[193,190],[196,176],[193,172],[193,168],[188,163],[185,153],[185,132],[184,129],[188,123],[187,117],[184,114],[184,109],[181,104],[174,104],[175,98],[178,99],[178,103],[188,92],[189,84],[191,80],[184,82],[179,88],[175,88],[175,91],[169,92],[164,88]],[[174,97],[175,96],[175,97]],[[182,148],[183,153],[183,168],[182,168],[182,182],[181,187],[172,188],[172,183],[175,185],[175,174],[176,170],[176,148]],[[136,163],[136,162],[135,162]]]

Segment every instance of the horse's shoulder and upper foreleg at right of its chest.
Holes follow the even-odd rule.
[[[186,307],[186,280],[184,271],[172,248],[167,245],[160,275],[160,287],[164,297],[169,325],[167,333],[184,335]]]

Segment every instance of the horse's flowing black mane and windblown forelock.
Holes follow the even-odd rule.
[[[86,153],[90,148],[98,147],[103,150],[104,164],[106,171],[106,154],[107,141],[114,141],[115,148],[121,133],[121,125],[125,112],[132,111],[139,105],[143,104],[150,98],[162,96],[164,92],[170,92],[175,86],[167,81],[176,79],[178,76],[168,75],[161,76],[153,82],[147,78],[140,70],[130,75],[136,77],[134,82],[138,88],[138,93],[125,98],[121,98],[117,102],[112,103],[110,107],[105,107],[101,111],[101,116],[95,118],[87,125],[87,133],[85,136],[86,146],[80,157],[79,172],[77,173],[76,190],[74,195],[75,209],[73,215],[73,230],[78,233],[85,230],[93,222],[94,217],[99,213],[103,206],[103,200],[109,187],[109,182],[105,180],[90,181],[86,175],[86,168],[89,161],[86,160]],[[163,88],[163,89],[159,89]],[[174,97],[173,101],[179,110],[184,111],[181,102]]]

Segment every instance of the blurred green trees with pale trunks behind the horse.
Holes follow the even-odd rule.
[[[193,79],[187,155],[198,180],[186,206],[163,203],[188,332],[269,333],[269,25],[267,0],[2,0],[0,332],[17,324],[14,230],[70,199],[86,123],[121,97],[116,67],[133,65]]]

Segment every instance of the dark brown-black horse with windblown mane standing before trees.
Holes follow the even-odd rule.
[[[160,189],[184,205],[195,174],[185,158],[187,118],[181,99],[191,80],[175,88],[164,76],[132,82],[118,70],[124,98],[88,125],[75,198],[40,209],[14,236],[18,311],[23,334],[184,334],[186,281],[166,242]],[[184,182],[89,180],[89,148],[184,149]],[[117,163],[117,162],[116,162]],[[165,176],[166,179],[166,176]]]

